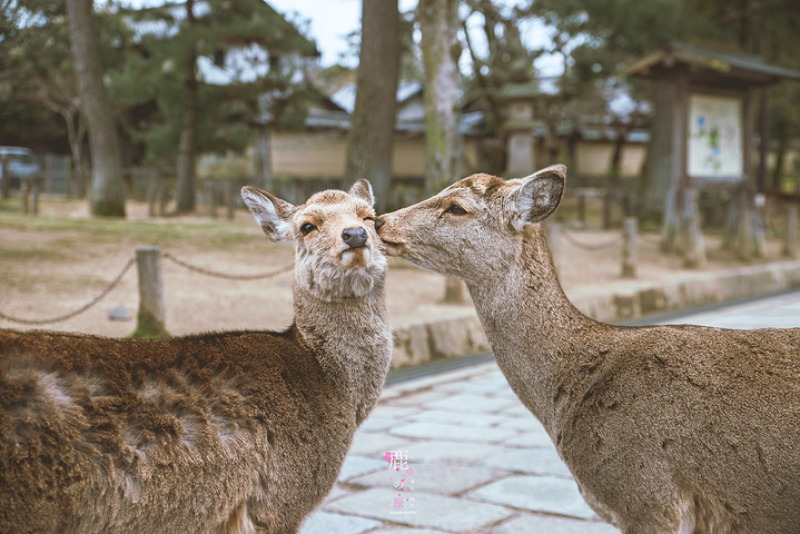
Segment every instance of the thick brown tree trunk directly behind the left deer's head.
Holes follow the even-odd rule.
[[[386,210],[392,180],[399,65],[397,0],[364,0],[356,105],[347,142],[345,180],[349,184],[358,178],[368,179],[378,212]]]

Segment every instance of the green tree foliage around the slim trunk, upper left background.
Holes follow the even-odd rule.
[[[146,160],[164,161],[177,152],[187,76],[200,82],[197,152],[241,152],[251,141],[248,121],[264,112],[278,127],[304,122],[300,91],[292,80],[296,68],[280,58],[314,56],[316,48],[261,0],[198,1],[192,22],[182,4],[121,13],[139,31],[126,43],[125,61],[109,71],[110,88],[113,100],[130,110],[126,131],[142,144]],[[251,67],[266,75],[215,86],[185,67],[190,55],[221,65],[227,55],[243,50],[253,52]]]

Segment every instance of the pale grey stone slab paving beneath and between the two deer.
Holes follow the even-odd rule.
[[[668,322],[798,327],[800,293]],[[544,428],[494,363],[387,387],[356,433],[336,487],[300,530],[467,532],[620,532],[584,503]]]

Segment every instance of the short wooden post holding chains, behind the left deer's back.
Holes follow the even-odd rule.
[[[139,314],[136,332],[131,337],[140,339],[169,337],[165,328],[164,276],[161,274],[161,248],[136,249],[139,270]]]

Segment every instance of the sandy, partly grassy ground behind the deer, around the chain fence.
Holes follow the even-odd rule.
[[[138,224],[95,224],[88,217],[85,202],[46,200],[43,222],[0,211],[0,313],[43,319],[75,310],[103,290],[134,256],[136,247],[142,245],[160,245],[186,263],[228,274],[269,273],[293,261],[292,248],[267,241],[244,210],[236,214],[234,221],[211,221],[199,216],[148,219],[146,207],[136,202],[129,202],[128,211],[128,219]],[[180,227],[180,231],[172,231],[176,227]],[[620,278],[619,236],[619,230],[569,231],[570,240],[564,239],[556,258],[569,297],[606,293],[612,286],[628,290],[654,281],[697,276],[697,270],[681,268],[680,258],[659,251],[658,236],[645,235],[639,246],[639,277]],[[589,249],[602,244],[610,246]],[[719,238],[707,237],[707,247],[710,261],[702,271],[712,274],[742,265],[720,249]],[[779,243],[769,241],[767,260],[779,259]],[[402,261],[393,260],[391,265],[387,287],[394,325],[473,313],[468,303],[443,305],[439,301],[444,295],[444,278],[439,275]],[[172,334],[280,329],[292,323],[290,274],[255,281],[227,280],[165,260],[164,275],[167,328]],[[108,313],[121,306],[135,317],[137,288],[134,267],[98,305],[75,318],[42,326],[0,319],[0,327],[127,336],[136,322],[109,320]]]

